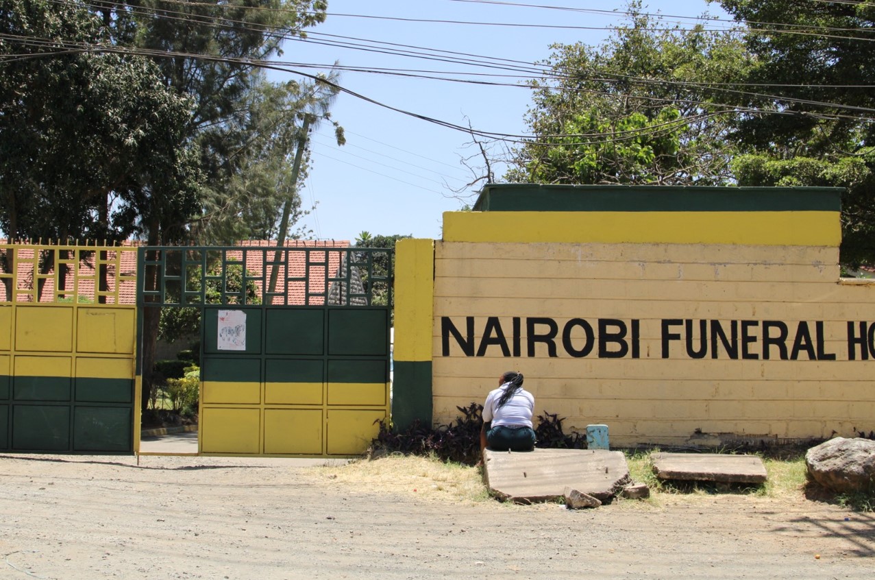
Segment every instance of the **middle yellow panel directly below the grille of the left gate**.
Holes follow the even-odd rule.
[[[18,306],[15,349],[72,352],[73,307]]]

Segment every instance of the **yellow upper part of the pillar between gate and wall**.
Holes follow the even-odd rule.
[[[395,245],[395,360],[431,360],[434,241],[398,240]]]

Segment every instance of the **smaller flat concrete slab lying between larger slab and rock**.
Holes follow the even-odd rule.
[[[720,453],[654,453],[654,473],[660,479],[762,484],[768,475],[758,456]]]

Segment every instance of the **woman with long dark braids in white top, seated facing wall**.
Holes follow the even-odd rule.
[[[535,397],[522,388],[520,372],[507,371],[498,382],[500,386],[489,392],[483,404],[480,454],[486,446],[494,451],[535,449]]]

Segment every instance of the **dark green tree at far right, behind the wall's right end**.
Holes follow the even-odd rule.
[[[875,263],[875,2],[722,0],[755,66],[732,133],[739,185],[846,187],[841,261]]]

